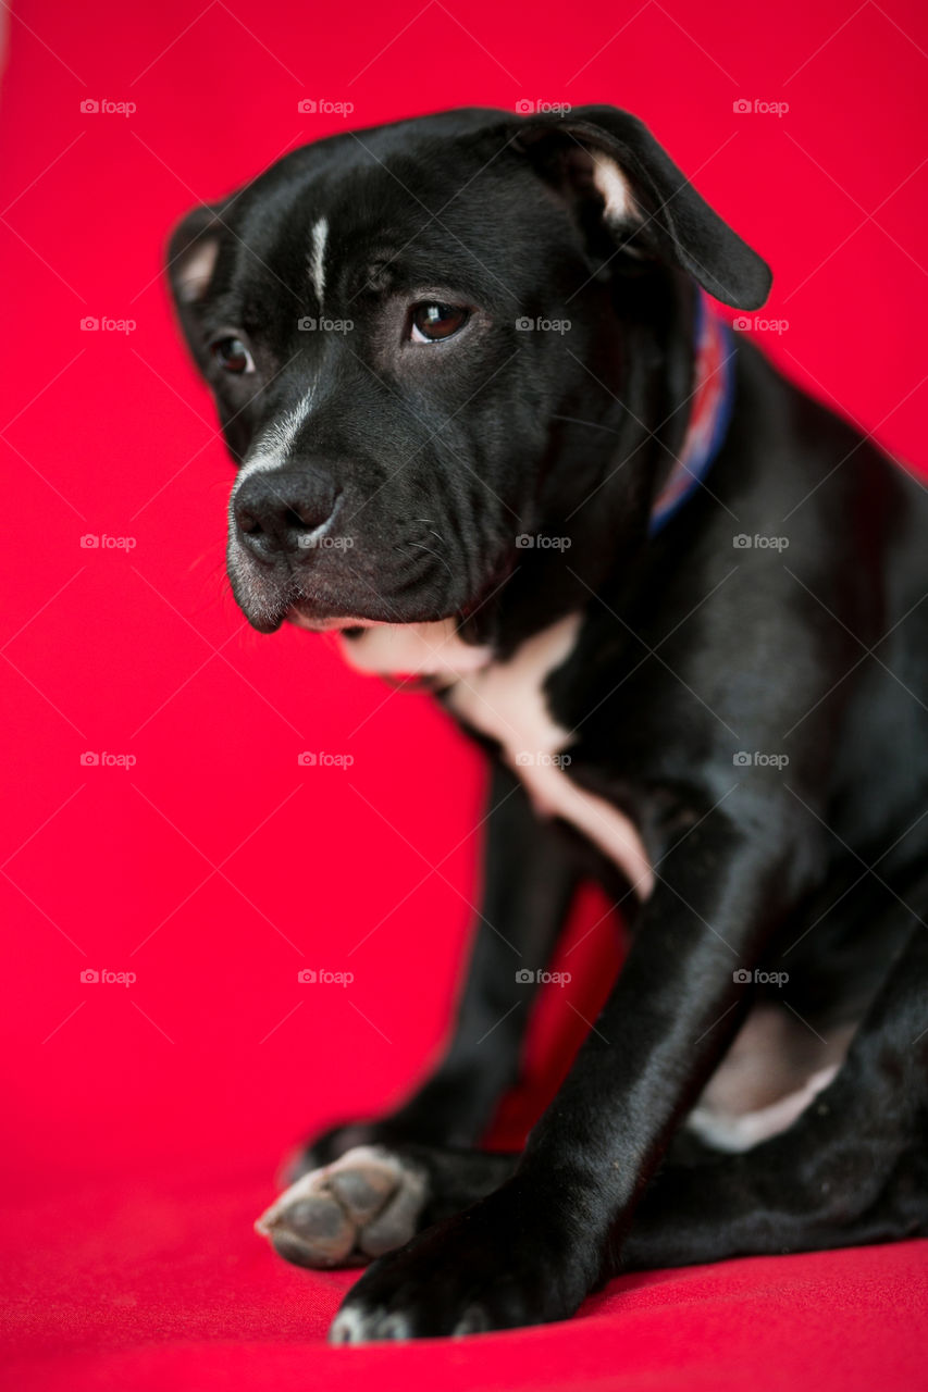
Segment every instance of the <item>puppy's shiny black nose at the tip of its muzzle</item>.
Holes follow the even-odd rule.
[[[254,473],[233,500],[238,536],[259,561],[270,562],[281,553],[309,558],[325,536],[336,498],[332,479],[315,470]]]

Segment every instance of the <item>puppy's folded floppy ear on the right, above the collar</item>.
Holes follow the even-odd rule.
[[[613,106],[574,107],[562,118],[527,117],[520,143],[542,173],[596,216],[612,241],[681,266],[734,309],[758,309],[771,270],[697,193],[651,131]]]

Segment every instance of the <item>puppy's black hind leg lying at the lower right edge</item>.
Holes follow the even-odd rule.
[[[928,1236],[928,927],[920,919],[835,1080],[789,1130],[752,1150],[669,1161],[605,1275],[915,1235]]]

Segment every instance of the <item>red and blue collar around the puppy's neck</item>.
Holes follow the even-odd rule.
[[[734,404],[734,335],[702,291],[697,296],[690,423],[648,523],[655,536],[697,489],[725,443]]]

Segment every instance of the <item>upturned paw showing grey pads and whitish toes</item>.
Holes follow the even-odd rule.
[[[351,1267],[408,1242],[426,1194],[426,1175],[410,1160],[358,1146],[302,1175],[255,1228],[298,1267]]]

